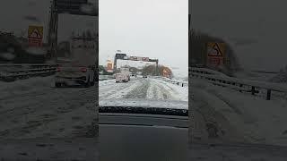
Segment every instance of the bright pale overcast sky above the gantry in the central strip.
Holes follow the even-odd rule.
[[[187,76],[187,0],[100,0],[100,64],[116,50],[159,59]]]

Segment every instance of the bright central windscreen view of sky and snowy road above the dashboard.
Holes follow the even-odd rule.
[[[187,110],[187,3],[100,1],[100,106]]]

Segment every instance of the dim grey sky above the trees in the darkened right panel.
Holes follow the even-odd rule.
[[[287,64],[287,1],[193,0],[192,26],[245,46],[235,50],[246,69],[278,70]]]

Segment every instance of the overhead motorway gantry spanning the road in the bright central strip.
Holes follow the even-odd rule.
[[[130,60],[130,61],[143,61],[143,62],[155,62],[155,73],[159,75],[159,60],[158,59],[151,59],[149,57],[140,57],[140,56],[128,56],[126,54],[116,54],[114,59],[114,72],[117,70],[117,59],[120,60]]]

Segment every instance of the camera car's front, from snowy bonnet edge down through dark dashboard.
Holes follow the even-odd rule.
[[[100,160],[187,160],[187,101],[106,99],[99,105]]]

